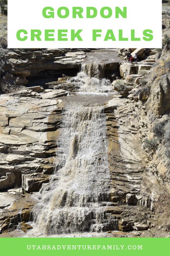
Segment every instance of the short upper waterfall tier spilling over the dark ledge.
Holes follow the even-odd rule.
[[[105,64],[82,64],[81,72],[76,77],[70,78],[68,82],[78,85],[80,93],[109,93],[112,91],[112,86],[110,80],[103,78],[104,70]]]

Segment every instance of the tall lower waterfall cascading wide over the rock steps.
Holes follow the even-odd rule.
[[[103,105],[65,105],[52,180],[39,194],[30,236],[117,230],[110,213],[110,173]]]

